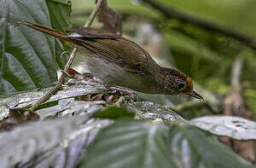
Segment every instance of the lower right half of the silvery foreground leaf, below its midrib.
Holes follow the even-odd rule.
[[[31,167],[76,167],[84,157],[84,151],[102,128],[112,124],[108,119],[90,119],[68,137],[62,139],[55,148],[37,155],[28,164]]]

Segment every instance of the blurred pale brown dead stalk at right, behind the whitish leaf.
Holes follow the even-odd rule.
[[[233,63],[230,83],[234,89],[224,98],[224,114],[236,115],[246,119],[252,119],[252,112],[247,109],[244,103],[243,85],[241,84],[241,74],[243,70],[243,60],[240,56],[236,57]],[[233,148],[242,158],[253,162],[256,159],[256,142],[255,141],[238,141],[230,137],[222,136],[220,141]],[[232,144],[232,145],[231,145]]]

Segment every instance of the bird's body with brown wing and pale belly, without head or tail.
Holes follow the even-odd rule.
[[[137,43],[113,33],[93,28],[73,29],[89,49],[85,62],[105,84],[119,85],[145,93],[157,93],[154,80],[159,67]],[[151,78],[151,79],[150,79]],[[150,82],[148,82],[150,81]]]

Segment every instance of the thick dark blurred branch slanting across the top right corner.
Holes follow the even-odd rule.
[[[143,3],[150,5],[152,8],[159,10],[162,14],[165,14],[166,18],[168,19],[181,20],[185,23],[189,23],[195,26],[200,26],[212,32],[218,32],[224,35],[225,37],[234,38],[239,42],[244,43],[248,47],[252,49],[256,49],[255,39],[245,34],[232,31],[229,28],[225,26],[220,26],[212,21],[202,20],[202,19],[196,18],[195,16],[191,16],[189,14],[185,14],[183,12],[177,11],[176,9],[172,9],[172,7],[170,6],[167,7],[165,4],[158,3],[155,0],[142,0],[142,1]]]

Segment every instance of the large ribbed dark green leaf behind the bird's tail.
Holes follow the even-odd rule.
[[[54,82],[54,38],[16,24],[27,20],[51,27],[44,1],[0,0],[0,8],[0,94]]]

